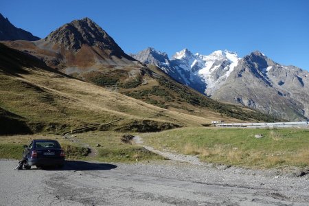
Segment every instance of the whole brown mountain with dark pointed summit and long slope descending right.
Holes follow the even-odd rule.
[[[211,100],[175,82],[156,67],[141,64],[126,55],[102,28],[88,18],[65,24],[40,41],[3,43],[85,82],[161,108],[207,117],[209,122],[214,119],[227,122],[273,120],[247,108]]]

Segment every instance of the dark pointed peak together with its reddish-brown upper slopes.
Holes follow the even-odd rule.
[[[101,65],[137,63],[89,18],[66,23],[39,41],[4,43],[40,58],[49,67],[60,71],[65,68],[65,73],[71,73],[76,68],[87,71]]]

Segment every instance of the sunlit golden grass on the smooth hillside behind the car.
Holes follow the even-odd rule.
[[[31,122],[62,125],[62,131],[116,119],[152,119],[181,126],[201,126],[210,119],[168,111],[102,87],[57,73],[26,69],[21,77],[0,73],[0,107]],[[46,80],[47,76],[48,80]],[[47,130],[47,128],[45,128]]]

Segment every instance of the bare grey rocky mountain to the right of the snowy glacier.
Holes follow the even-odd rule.
[[[289,120],[308,119],[308,72],[285,67],[260,52],[244,56],[213,98],[238,102]]]

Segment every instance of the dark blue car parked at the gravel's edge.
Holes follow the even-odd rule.
[[[45,166],[56,166],[62,168],[65,165],[65,151],[61,149],[60,144],[52,139],[34,139],[29,146],[23,146],[23,157],[25,163],[23,168],[29,170],[31,166],[37,168]]]

